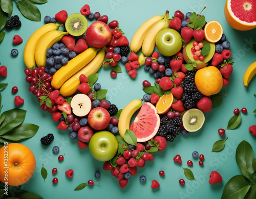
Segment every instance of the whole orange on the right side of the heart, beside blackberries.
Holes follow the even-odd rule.
[[[195,84],[203,95],[215,95],[220,92],[223,85],[221,72],[212,66],[200,69],[195,75]]]

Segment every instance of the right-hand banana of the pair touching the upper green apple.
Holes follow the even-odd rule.
[[[147,32],[144,41],[142,43],[142,53],[145,56],[150,56],[154,52],[155,46],[156,46],[156,37],[157,34],[166,28],[169,27],[168,22],[168,13],[169,11],[166,11],[165,17],[160,20],[155,26],[153,26],[150,31]]]

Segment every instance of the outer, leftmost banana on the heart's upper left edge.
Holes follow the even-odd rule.
[[[25,48],[23,59],[26,67],[31,69],[35,66],[35,49],[39,40],[45,36],[46,33],[52,30],[58,30],[58,28],[63,25],[49,23],[40,28],[38,28],[28,39]]]

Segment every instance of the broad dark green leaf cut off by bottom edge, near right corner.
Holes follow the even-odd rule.
[[[243,175],[233,176],[225,185],[221,199],[243,199],[251,185]]]

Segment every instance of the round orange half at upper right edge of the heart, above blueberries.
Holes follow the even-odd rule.
[[[223,34],[223,28],[218,21],[209,21],[204,27],[204,39],[215,43],[219,41]]]

